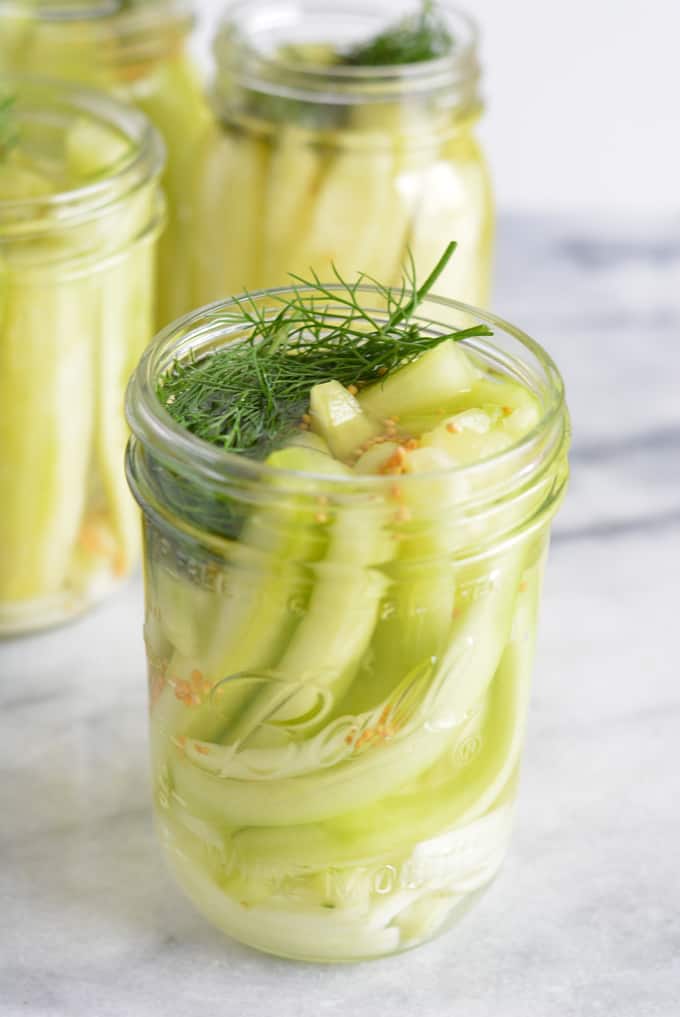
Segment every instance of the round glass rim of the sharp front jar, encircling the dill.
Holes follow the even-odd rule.
[[[330,291],[341,290],[341,287],[333,285],[328,285],[327,288]],[[299,287],[296,292],[304,296],[307,289]],[[290,287],[281,287],[248,294],[248,299],[265,301],[272,298],[271,311],[274,313],[281,309],[281,304],[275,302],[276,298],[291,296],[292,293]],[[378,290],[373,286],[360,286],[357,293],[370,297],[377,295]],[[241,299],[234,297],[218,301],[187,314],[160,333],[150,344],[127,390],[126,413],[134,439],[165,467],[190,475],[196,481],[202,480],[213,487],[221,484],[230,486],[234,481],[264,483],[275,477],[277,488],[281,490],[285,486],[292,493],[301,485],[309,489],[309,485],[314,483],[323,489],[354,491],[364,496],[366,493],[388,490],[394,482],[390,476],[335,477],[268,466],[264,462],[229,452],[196,437],[171,416],[158,396],[160,379],[178,360],[189,356],[199,358],[201,353],[212,352],[237,338],[242,327],[226,324],[225,316],[230,309],[238,306]],[[384,314],[380,310],[371,313],[378,317],[381,313]],[[450,334],[452,315],[457,319],[455,327],[487,324],[494,332],[493,339],[503,338],[506,349],[499,343],[494,343],[493,339],[469,339],[463,340],[461,345],[478,357],[488,359],[509,377],[514,374],[515,378],[529,385],[539,400],[541,416],[536,426],[520,439],[487,459],[467,465],[451,465],[446,469],[427,473],[403,475],[399,477],[399,486],[416,486],[452,475],[483,478],[485,471],[491,472],[500,464],[509,468],[514,462],[519,465],[528,459],[532,460],[533,452],[536,453],[537,469],[540,469],[542,465],[552,463],[568,441],[564,383],[550,355],[535,340],[502,318],[444,297],[428,296],[421,305],[420,313],[414,315],[413,320],[421,323],[423,328],[444,335]],[[502,472],[504,476],[512,475],[511,469]],[[503,492],[494,489],[493,493],[494,496],[499,496]]]

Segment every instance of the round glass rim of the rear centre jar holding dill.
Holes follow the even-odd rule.
[[[390,11],[392,7],[390,4]],[[272,29],[308,25],[313,17],[322,24],[326,15],[319,11],[317,0],[292,0],[285,4],[275,0],[235,0],[224,15],[213,43],[219,76],[233,75],[254,92],[328,105],[384,103],[405,95],[437,95],[447,98],[450,105],[479,106],[477,22],[449,0],[439,0],[438,9],[446,17],[454,39],[450,52],[443,56],[379,66],[323,65],[289,60],[275,51],[267,53],[258,43],[258,37],[265,39]],[[333,2],[327,16],[368,18],[375,13],[375,5],[367,5],[365,0],[338,0]]]

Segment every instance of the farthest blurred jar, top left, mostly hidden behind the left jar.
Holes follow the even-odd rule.
[[[112,93],[153,121],[168,153],[157,321],[194,306],[189,291],[190,173],[208,108],[187,51],[184,0],[0,0],[0,72],[66,78]]]

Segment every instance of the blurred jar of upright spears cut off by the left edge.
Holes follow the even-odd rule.
[[[0,633],[61,621],[135,562],[125,384],[152,335],[163,142],[99,93],[0,75]],[[11,196],[10,196],[11,195]]]

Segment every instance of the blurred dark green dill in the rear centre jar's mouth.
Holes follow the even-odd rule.
[[[350,67],[381,67],[446,56],[453,46],[443,14],[433,0],[423,0],[421,9],[366,43],[355,46],[342,58]]]

